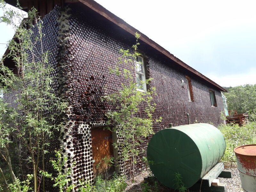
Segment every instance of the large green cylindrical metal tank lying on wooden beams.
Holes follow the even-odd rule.
[[[176,188],[175,173],[180,173],[189,188],[218,163],[225,149],[225,139],[216,127],[198,123],[157,132],[148,143],[147,156],[162,184]]]

